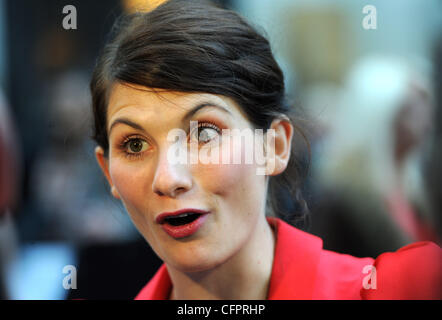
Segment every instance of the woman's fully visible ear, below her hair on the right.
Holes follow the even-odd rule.
[[[292,148],[293,125],[287,117],[273,120],[267,132],[266,174],[276,176],[287,168]]]

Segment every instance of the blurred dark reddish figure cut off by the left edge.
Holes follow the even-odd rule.
[[[17,249],[12,213],[18,207],[20,181],[20,141],[0,90],[0,300],[8,299],[7,265]]]

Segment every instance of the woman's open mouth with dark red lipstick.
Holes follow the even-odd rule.
[[[185,238],[196,233],[207,220],[209,211],[199,209],[181,209],[164,212],[155,221],[163,230],[175,239]]]

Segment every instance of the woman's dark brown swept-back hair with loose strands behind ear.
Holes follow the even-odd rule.
[[[267,39],[237,13],[206,1],[170,0],[115,23],[90,85],[93,138],[106,154],[106,110],[116,82],[227,96],[264,130],[281,115],[291,118],[284,75]],[[292,154],[284,173],[270,177],[267,198],[272,215],[298,226],[307,213],[301,174]]]

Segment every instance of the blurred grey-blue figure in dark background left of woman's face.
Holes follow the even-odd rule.
[[[91,117],[87,78],[81,69],[66,70],[46,87],[51,143],[42,146],[31,169],[31,191],[42,208],[46,239],[72,243],[130,239],[120,208],[98,201],[100,181],[88,179],[96,168],[87,158]]]

